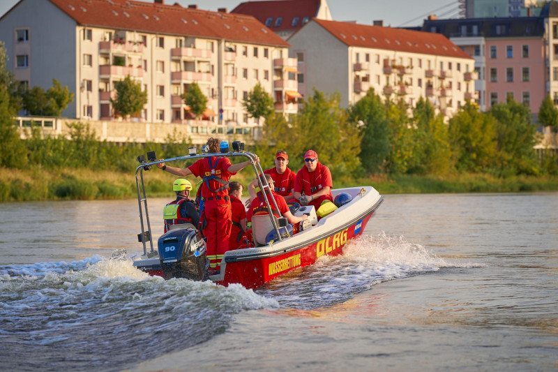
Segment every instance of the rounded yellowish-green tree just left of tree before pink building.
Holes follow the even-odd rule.
[[[478,112],[477,105],[465,103],[449,120],[450,144],[458,170],[479,172],[497,164],[496,120]]]

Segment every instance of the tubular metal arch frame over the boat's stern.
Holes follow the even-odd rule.
[[[175,161],[191,161],[199,158],[210,158],[210,157],[219,157],[219,156],[226,156],[228,158],[235,158],[235,157],[248,158],[250,164],[252,165],[252,169],[256,174],[259,190],[262,191],[263,195],[265,195],[267,191],[271,193],[271,187],[269,186],[269,183],[267,182],[266,178],[258,177],[259,174],[264,174],[264,171],[262,170],[262,165],[260,165],[259,162],[255,161],[256,159],[255,154],[252,154],[250,152],[229,151],[226,153],[193,154],[188,156],[178,156],[176,158],[161,159],[158,161],[143,162],[135,170],[135,184],[137,188],[137,204],[140,209],[140,224],[142,228],[142,232],[137,235],[137,239],[144,246],[144,255],[151,256],[155,252],[155,250],[153,249],[153,239],[151,235],[151,223],[149,221],[149,212],[147,211],[147,198],[145,195],[145,184],[144,184],[144,170],[150,170],[153,165],[157,165],[159,163],[172,163]],[[199,187],[202,186],[203,185],[200,184]],[[284,238],[281,237],[278,222],[276,218],[273,218],[273,213],[271,213],[272,208],[271,208],[271,204],[269,204],[269,199],[264,198],[264,200],[266,202],[266,206],[268,207],[268,210],[270,211],[269,218],[271,218],[271,224],[273,225],[273,229],[276,230],[278,239],[282,240]],[[275,207],[275,210],[278,211],[279,207],[277,205],[275,198],[271,198],[271,201],[273,202],[273,206]],[[145,215],[146,224],[144,224],[144,215]],[[151,246],[151,250],[149,251],[149,253],[147,252],[147,247],[146,247],[147,241],[149,241],[149,245]]]

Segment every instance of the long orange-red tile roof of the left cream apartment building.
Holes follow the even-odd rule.
[[[237,43],[289,47],[249,15],[210,12],[132,0],[50,0],[78,24],[153,34],[222,38]]]

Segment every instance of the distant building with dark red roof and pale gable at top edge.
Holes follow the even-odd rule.
[[[231,13],[252,15],[285,40],[312,18],[333,20],[326,0],[246,1]]]

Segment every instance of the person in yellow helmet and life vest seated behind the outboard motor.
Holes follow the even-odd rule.
[[[163,208],[163,219],[165,221],[165,232],[172,225],[191,223],[196,228],[199,225],[199,215],[193,200],[190,200],[192,184],[187,179],[179,178],[172,184],[172,190],[176,193],[176,200],[169,202]]]

